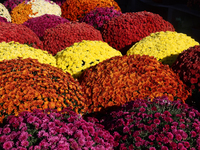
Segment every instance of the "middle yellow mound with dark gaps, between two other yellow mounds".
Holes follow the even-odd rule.
[[[122,54],[106,42],[83,40],[58,52],[55,58],[58,68],[77,78],[90,66],[114,56],[122,56]]]

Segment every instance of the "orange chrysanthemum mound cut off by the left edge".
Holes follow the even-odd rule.
[[[7,115],[22,111],[61,111],[71,107],[76,113],[86,111],[85,96],[69,73],[36,59],[12,59],[0,62],[0,122]]]

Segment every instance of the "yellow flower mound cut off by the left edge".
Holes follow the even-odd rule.
[[[22,57],[37,59],[40,63],[56,66],[56,59],[47,51],[30,47],[26,44],[11,41],[0,43],[0,61]]]

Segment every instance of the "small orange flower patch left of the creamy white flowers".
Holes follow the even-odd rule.
[[[12,23],[16,24],[22,24],[29,20],[29,15],[34,15],[32,11],[32,4],[26,4],[25,1],[17,5],[12,11],[11,11],[11,20]],[[22,15],[23,14],[23,15]]]

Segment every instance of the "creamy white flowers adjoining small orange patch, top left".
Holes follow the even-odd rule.
[[[51,14],[56,16],[61,16],[61,8],[59,5],[53,1],[46,0],[31,0],[27,4],[32,5],[32,12],[34,15],[29,15],[29,17],[35,18],[42,16],[44,14]]]

